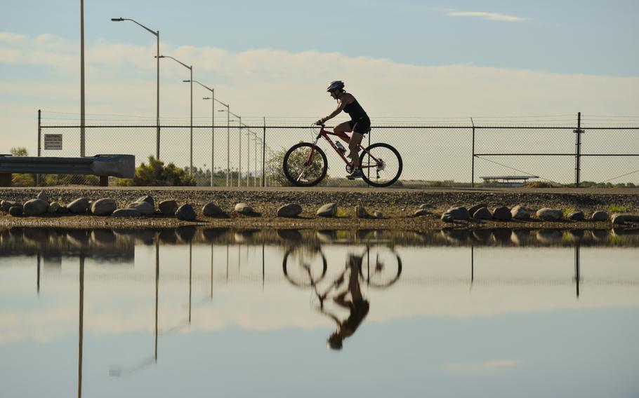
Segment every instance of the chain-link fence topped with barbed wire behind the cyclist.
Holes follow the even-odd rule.
[[[79,156],[79,125],[48,116],[42,112],[39,118],[39,156]],[[386,142],[402,156],[404,169],[395,186],[506,186],[503,177],[517,178],[514,185],[526,179],[552,185],[639,185],[639,118],[374,119],[372,124],[362,145]],[[138,165],[148,164],[159,146],[159,159],[183,167],[198,186],[286,185],[284,153],[298,142],[314,141],[318,132],[309,125],[265,118],[215,126],[210,120],[193,126],[169,123],[160,127],[159,145],[157,126],[150,123],[89,119],[85,131],[86,156],[129,153]],[[61,150],[44,146],[49,134],[62,135]],[[365,186],[345,179],[346,165],[327,142],[320,140],[319,147],[329,164],[323,185]],[[97,185],[98,179],[43,176],[40,184]]]

